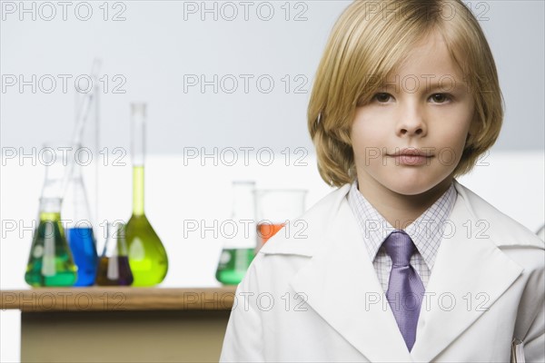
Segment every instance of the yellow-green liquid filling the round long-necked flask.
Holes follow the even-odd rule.
[[[144,166],[133,167],[133,215],[126,225],[133,286],[154,286],[163,281],[168,258],[163,243],[144,214]]]

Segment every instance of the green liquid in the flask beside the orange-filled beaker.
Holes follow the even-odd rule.
[[[223,249],[216,280],[225,285],[237,285],[253,260],[254,249]]]

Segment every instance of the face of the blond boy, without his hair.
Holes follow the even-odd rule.
[[[423,39],[356,110],[351,137],[360,190],[417,195],[450,182],[473,110],[441,35]]]

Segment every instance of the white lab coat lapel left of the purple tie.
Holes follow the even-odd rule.
[[[292,289],[304,292],[308,305],[371,361],[411,361],[376,272],[362,232],[342,198],[324,248],[299,271]]]

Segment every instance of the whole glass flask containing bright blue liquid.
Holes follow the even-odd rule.
[[[74,161],[72,175],[64,194],[63,218],[67,221],[68,244],[77,265],[77,280],[74,286],[91,286],[96,277],[98,256],[82,167],[78,160]]]

